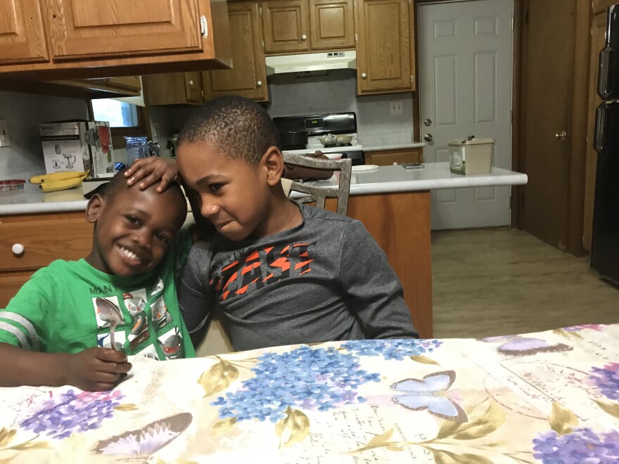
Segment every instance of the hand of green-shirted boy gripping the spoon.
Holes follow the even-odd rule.
[[[71,354],[65,365],[68,385],[82,390],[105,392],[113,389],[131,370],[127,355],[111,348],[89,348]]]

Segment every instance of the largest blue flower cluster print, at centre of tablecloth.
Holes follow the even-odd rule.
[[[212,405],[219,416],[236,420],[269,418],[276,423],[288,407],[328,411],[365,401],[357,387],[380,382],[378,373],[362,370],[359,358],[333,348],[300,347],[283,354],[265,353],[236,392],[227,392]]]

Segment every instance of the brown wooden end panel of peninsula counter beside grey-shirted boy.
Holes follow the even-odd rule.
[[[326,208],[336,211],[337,200]],[[348,216],[362,221],[400,278],[404,301],[421,338],[433,336],[430,192],[353,195]]]

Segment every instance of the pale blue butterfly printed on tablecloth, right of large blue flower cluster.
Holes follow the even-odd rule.
[[[423,379],[405,379],[395,382],[391,388],[403,394],[393,397],[395,404],[413,411],[427,409],[433,415],[456,423],[468,422],[468,416],[454,400],[445,393],[456,380],[453,370],[443,370],[426,375]]]

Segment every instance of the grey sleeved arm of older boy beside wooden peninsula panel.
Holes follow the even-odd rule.
[[[418,338],[404,290],[385,252],[360,221],[352,221],[340,247],[338,278],[352,297],[351,311],[367,338]]]

